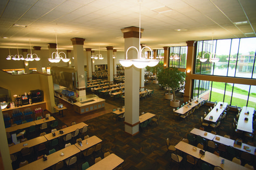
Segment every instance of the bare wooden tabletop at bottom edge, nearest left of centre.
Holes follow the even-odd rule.
[[[98,161],[96,164],[90,166],[87,168],[88,170],[112,170],[122,164],[124,160],[120,157],[118,157],[116,154],[110,154],[106,158]]]

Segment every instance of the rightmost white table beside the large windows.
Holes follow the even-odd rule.
[[[249,112],[249,114],[247,114]],[[242,107],[242,110],[239,115],[239,119],[237,122],[237,129],[245,132],[253,132],[253,114],[254,108],[253,107]],[[248,118],[246,121],[245,118]]]

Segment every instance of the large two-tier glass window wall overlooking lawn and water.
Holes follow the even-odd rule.
[[[255,44],[255,37],[199,41],[194,73],[255,79]],[[212,62],[213,56],[219,61]],[[207,60],[200,62],[200,58]],[[256,109],[256,87],[253,85],[194,80],[193,97]]]

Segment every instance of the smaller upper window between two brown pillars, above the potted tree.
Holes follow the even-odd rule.
[[[170,67],[186,68],[187,46],[170,47]]]

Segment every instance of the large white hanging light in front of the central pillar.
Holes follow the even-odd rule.
[[[150,49],[151,57],[150,59],[143,57],[143,54],[142,54],[143,49],[140,45],[140,8],[141,8],[142,0],[138,0],[138,2],[139,2],[139,50],[135,46],[130,46],[126,50],[126,59],[119,59],[119,62],[124,67],[130,67],[133,64],[135,67],[139,69],[143,69],[146,66],[150,66],[150,67],[156,66],[159,63],[159,60],[153,59],[152,50],[148,46],[143,47],[143,49],[145,48]],[[138,59],[127,59],[127,53],[132,48],[136,49],[138,53]]]

